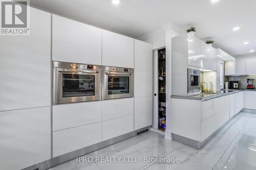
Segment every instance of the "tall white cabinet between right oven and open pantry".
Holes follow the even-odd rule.
[[[134,51],[134,129],[152,125],[153,46],[135,40]]]

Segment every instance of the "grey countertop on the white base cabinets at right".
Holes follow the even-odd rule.
[[[214,98],[219,98],[224,95],[234,94],[241,92],[243,90],[222,90],[222,92],[217,93],[201,93],[198,95],[191,96],[182,96],[182,95],[172,95],[170,96],[173,99],[187,99],[187,100],[199,100],[199,101],[207,101]]]

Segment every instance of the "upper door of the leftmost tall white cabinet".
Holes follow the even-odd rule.
[[[51,104],[51,14],[30,8],[30,35],[0,38],[0,111]]]

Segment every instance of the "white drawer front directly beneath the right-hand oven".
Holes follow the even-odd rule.
[[[102,120],[134,115],[134,98],[102,101]]]

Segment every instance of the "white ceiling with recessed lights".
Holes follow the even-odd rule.
[[[138,38],[173,21],[211,38],[230,55],[256,52],[256,1],[220,0],[31,0],[30,4],[96,27]],[[232,31],[236,26],[237,32]],[[247,45],[243,43],[250,42]]]

